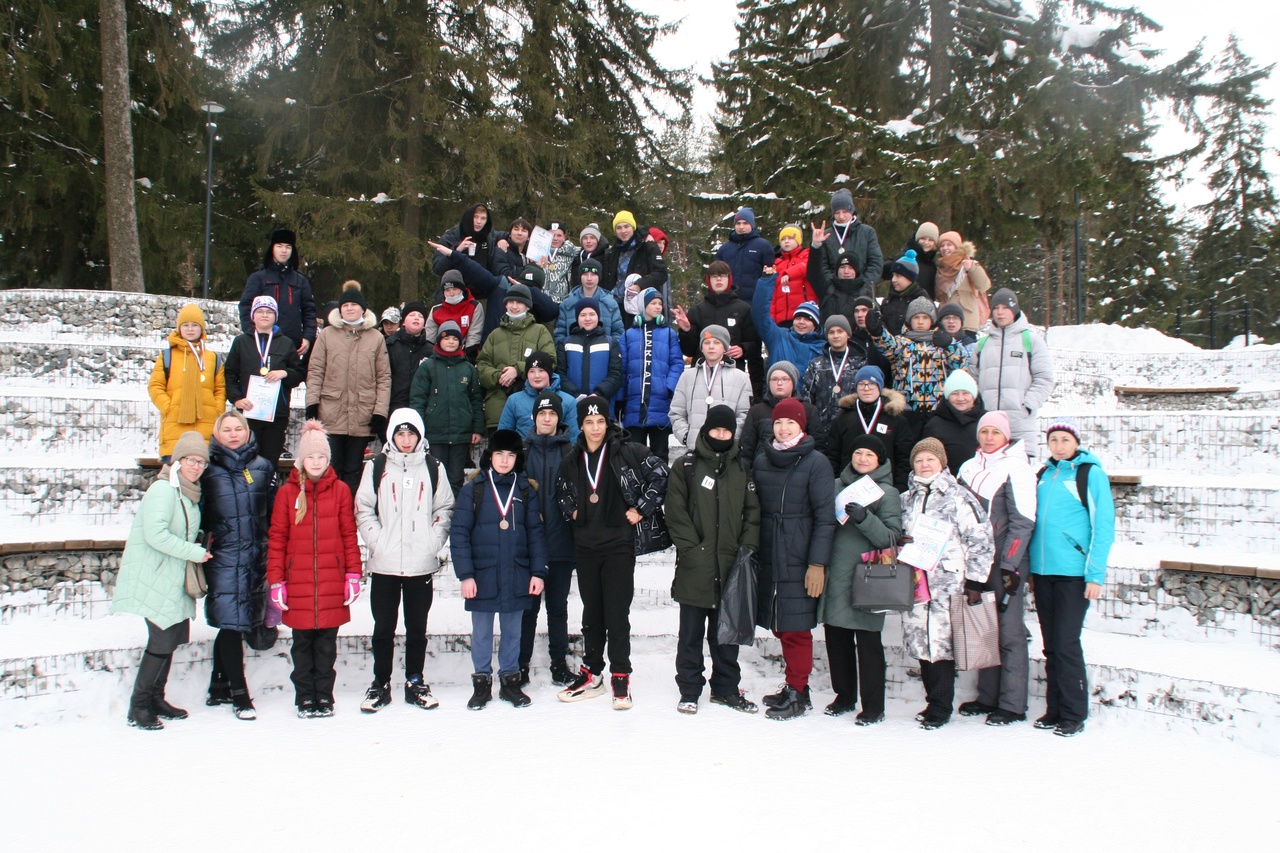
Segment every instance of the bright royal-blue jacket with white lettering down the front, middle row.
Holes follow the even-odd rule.
[[[622,425],[671,426],[671,397],[685,371],[676,330],[652,321],[627,329],[622,371]]]

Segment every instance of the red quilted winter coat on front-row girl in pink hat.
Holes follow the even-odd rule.
[[[306,480],[307,512],[293,523],[300,471],[275,494],[266,547],[266,579],[288,584],[284,624],[300,630],[338,628],[351,621],[343,606],[347,574],[361,574],[356,512],[351,489],[329,467],[319,482]]]

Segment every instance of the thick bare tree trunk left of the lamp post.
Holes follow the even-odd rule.
[[[138,211],[133,199],[133,128],[124,0],[99,0],[102,38],[102,150],[106,169],[106,257],[113,291],[145,293]]]

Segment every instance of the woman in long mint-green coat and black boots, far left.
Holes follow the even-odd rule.
[[[196,615],[196,602],[186,588],[187,562],[205,562],[212,556],[196,542],[200,475],[209,465],[204,435],[183,433],[174,444],[173,460],[142,498],[111,596],[111,612],[137,613],[147,620],[147,648],[129,699],[128,722],[138,729],[163,729],[161,717],[187,716],[165,702],[164,688],[173,652],[191,639],[191,619]]]

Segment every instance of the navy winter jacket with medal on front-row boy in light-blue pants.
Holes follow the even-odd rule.
[[[499,526],[502,514],[489,485],[489,470],[481,469],[468,480],[453,506],[453,523],[449,525],[453,570],[458,580],[476,581],[476,597],[465,599],[468,612],[529,610],[534,603],[529,580],[547,576],[547,538],[538,493],[524,474],[494,475],[497,498],[506,500],[511,489],[516,489],[507,514],[509,526],[503,530]],[[474,494],[477,488],[484,489],[479,512]]]

